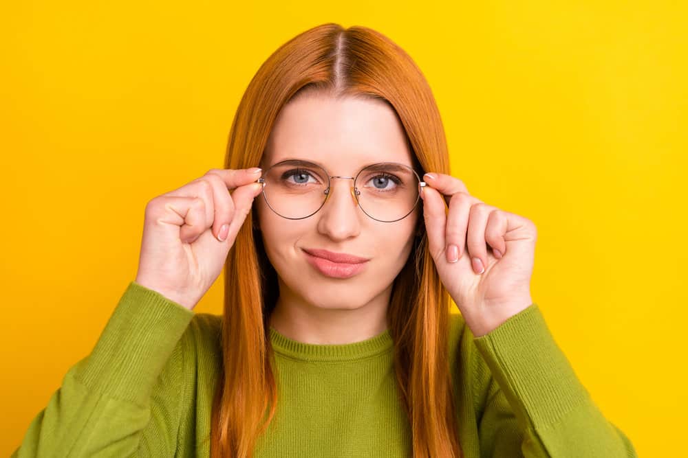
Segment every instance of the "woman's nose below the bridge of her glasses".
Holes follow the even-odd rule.
[[[332,240],[346,240],[361,233],[362,212],[354,195],[352,179],[332,179],[325,205],[319,216],[318,231]]]

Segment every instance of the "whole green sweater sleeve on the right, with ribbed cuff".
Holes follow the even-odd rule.
[[[638,456],[578,380],[537,304],[473,342],[492,373],[479,424],[482,457]]]

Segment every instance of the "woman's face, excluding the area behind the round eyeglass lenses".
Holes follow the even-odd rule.
[[[302,159],[321,165],[330,176],[356,176],[371,163],[396,162],[412,167],[411,154],[402,125],[385,102],[336,100],[310,93],[292,99],[279,113],[261,168],[267,171],[280,161]],[[298,179],[292,176],[290,180]],[[279,277],[281,301],[348,310],[380,301],[387,306],[391,284],[413,246],[420,204],[402,220],[376,221],[358,207],[350,191],[353,183],[331,179],[325,205],[301,220],[282,218],[266,205],[264,196],[256,198],[259,227]],[[343,269],[343,276],[332,276],[333,270],[340,274],[342,270],[306,253],[313,250],[368,261],[355,273]]]

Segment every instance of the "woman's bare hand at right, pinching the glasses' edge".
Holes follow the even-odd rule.
[[[436,178],[426,174],[421,192],[430,253],[442,284],[479,337],[533,304],[537,231],[527,218],[471,196],[460,179],[431,175]]]

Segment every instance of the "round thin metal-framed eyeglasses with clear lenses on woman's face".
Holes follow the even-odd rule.
[[[354,180],[351,193],[361,210],[380,222],[395,222],[411,214],[426,184],[408,165],[380,162],[367,165],[356,176],[330,176],[320,165],[289,159],[270,166],[259,183],[268,207],[288,220],[316,214],[325,205],[330,179]]]

